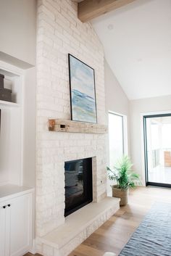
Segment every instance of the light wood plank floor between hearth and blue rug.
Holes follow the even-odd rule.
[[[115,252],[119,255],[146,212],[157,201],[171,203],[171,189],[148,187],[130,191],[129,204],[121,207],[68,256],[102,256],[104,252]]]

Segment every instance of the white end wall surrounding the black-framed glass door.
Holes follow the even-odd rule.
[[[130,101],[130,152],[134,169],[141,174],[143,185],[145,181],[143,159],[143,127],[142,113],[167,112],[171,110],[171,96],[161,96]]]

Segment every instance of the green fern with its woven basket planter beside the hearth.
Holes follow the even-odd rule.
[[[141,183],[139,175],[133,173],[132,162],[128,156],[123,156],[117,161],[114,169],[107,167],[109,180],[117,181],[116,185],[112,185],[112,197],[120,198],[120,206],[128,204],[128,190],[135,188],[136,183]]]

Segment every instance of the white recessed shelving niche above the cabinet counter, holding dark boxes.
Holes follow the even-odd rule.
[[[22,184],[22,70],[0,61],[4,88],[12,90],[12,102],[0,100],[0,186]]]

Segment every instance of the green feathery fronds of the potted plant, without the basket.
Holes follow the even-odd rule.
[[[139,175],[133,173],[132,166],[130,158],[127,155],[123,156],[117,161],[113,170],[107,167],[109,180],[117,181],[118,189],[135,188],[135,185],[141,184],[141,181]]]

